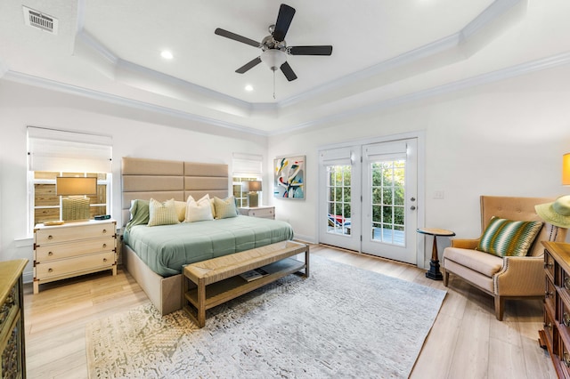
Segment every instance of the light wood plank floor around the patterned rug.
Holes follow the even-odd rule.
[[[409,264],[311,248],[333,261],[446,289]],[[120,269],[117,277],[109,271],[46,284],[39,294],[25,285],[28,378],[86,378],[85,325],[145,302],[141,287]],[[507,302],[502,322],[493,310],[490,296],[452,278],[411,378],[555,378],[550,357],[537,342],[542,302]]]

